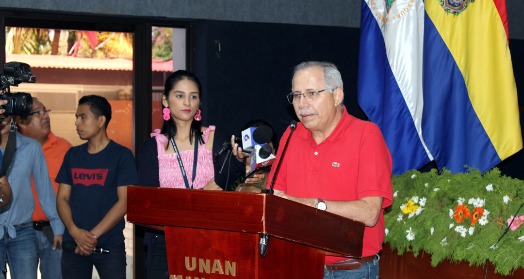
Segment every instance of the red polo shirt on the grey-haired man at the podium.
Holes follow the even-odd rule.
[[[280,141],[277,159],[289,135],[286,130]],[[331,135],[320,144],[311,132],[299,123],[289,141],[275,180],[275,189],[302,198],[325,200],[357,200],[364,197],[383,197],[384,208],[391,205],[391,155],[379,128],[369,121],[349,115],[345,108],[342,119]],[[271,181],[276,168],[271,169]],[[382,249],[384,215],[380,214],[374,227],[364,230],[362,256]],[[326,264],[345,258],[326,256]]]

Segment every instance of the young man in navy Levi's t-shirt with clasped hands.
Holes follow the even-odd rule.
[[[127,185],[137,184],[133,153],[107,137],[111,105],[104,97],[82,97],[76,117],[78,135],[88,142],[69,149],[56,179],[58,214],[67,228],[62,276],[91,279],[94,265],[101,279],[125,279]]]

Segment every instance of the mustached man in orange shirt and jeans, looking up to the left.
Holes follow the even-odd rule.
[[[59,184],[54,180],[57,178],[65,152],[67,152],[72,145],[66,139],[54,136],[53,132],[51,132],[50,112],[51,110],[46,109],[38,99],[33,98],[31,113],[26,118],[18,118],[17,124],[22,135],[37,140],[42,146],[49,177],[54,188],[54,194],[56,194]],[[35,184],[34,182],[31,184],[36,205],[32,220],[38,240],[40,273],[42,279],[62,278],[60,269],[62,251],[59,247],[57,249],[57,243],[62,242],[62,235],[53,235],[49,220],[46,215],[43,214],[40,203],[38,202]]]

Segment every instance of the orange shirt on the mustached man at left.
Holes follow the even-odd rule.
[[[49,171],[49,178],[53,184],[54,193],[58,192],[58,182],[54,181],[57,178],[58,171],[64,160],[65,152],[72,147],[71,143],[64,138],[54,136],[53,132],[49,133],[47,142],[43,144],[43,156],[46,158],[47,170]],[[47,221],[46,215],[43,214],[42,207],[38,201],[38,194],[35,189],[35,182],[31,179],[31,186],[33,195],[35,196],[35,211],[33,212],[33,221]]]

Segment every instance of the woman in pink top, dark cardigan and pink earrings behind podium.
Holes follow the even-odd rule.
[[[216,171],[224,158],[213,163],[213,149],[230,139],[214,126],[201,126],[201,87],[188,71],[168,77],[162,95],[162,130],[151,133],[138,153],[138,185],[221,191],[244,171],[243,163],[234,159],[224,175]],[[169,278],[165,241],[163,231],[146,230],[147,278]]]

